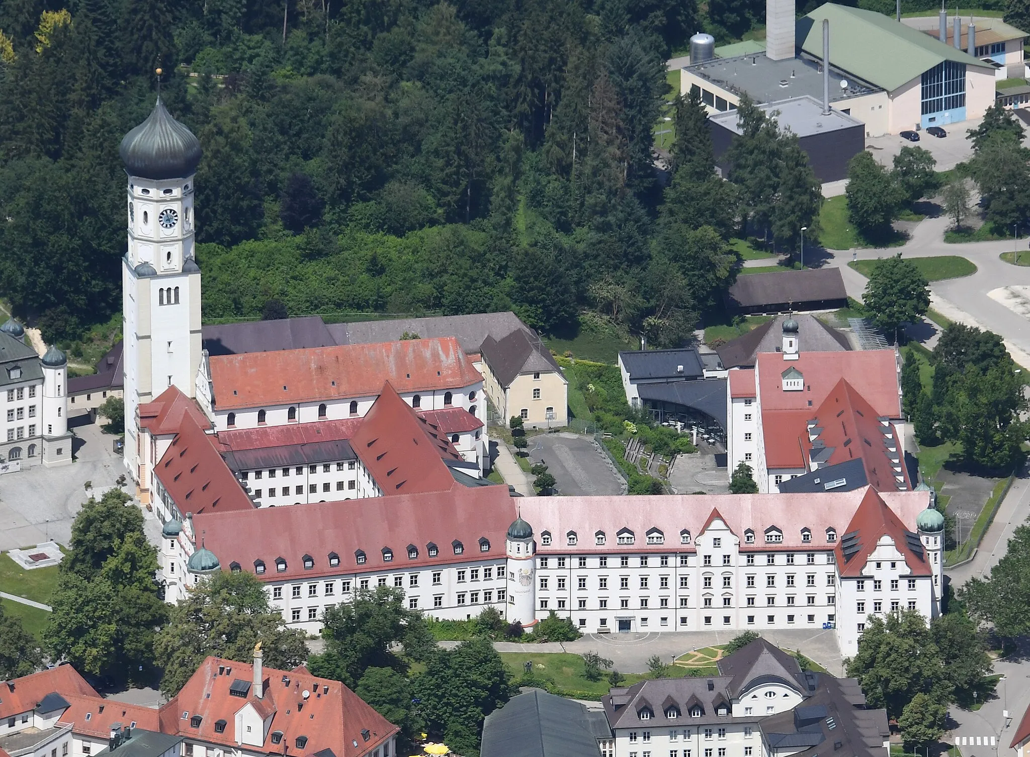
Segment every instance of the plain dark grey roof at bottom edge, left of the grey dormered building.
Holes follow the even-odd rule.
[[[479,753],[482,757],[598,757],[598,737],[611,737],[603,713],[531,689],[486,716]]]

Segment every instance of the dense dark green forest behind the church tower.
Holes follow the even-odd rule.
[[[205,318],[511,308],[673,344],[731,282],[729,239],[813,226],[794,138],[743,104],[717,178],[703,108],[667,83],[692,33],[755,3],[455,2],[0,0],[0,297],[58,340],[119,310],[117,146],[159,65],[204,148]]]

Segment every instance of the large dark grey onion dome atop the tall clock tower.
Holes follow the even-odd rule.
[[[122,140],[118,154],[130,176],[180,179],[197,172],[200,140],[172,117],[159,97],[146,121]]]

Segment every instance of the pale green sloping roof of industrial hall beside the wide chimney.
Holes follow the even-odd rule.
[[[823,55],[823,19],[830,21],[830,64],[888,92],[943,61],[994,68],[883,13],[835,3],[820,5],[797,21],[798,46],[817,58]]]

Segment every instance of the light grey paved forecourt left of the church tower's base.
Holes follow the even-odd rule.
[[[75,461],[63,468],[32,468],[0,476],[0,551],[50,539],[68,544],[71,523],[90,493],[100,495],[125,472],[114,437],[94,423],[75,425]],[[87,490],[87,481],[93,488]]]

